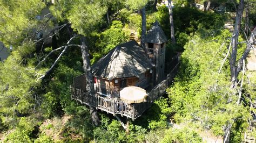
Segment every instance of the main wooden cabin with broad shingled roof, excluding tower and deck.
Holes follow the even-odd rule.
[[[134,40],[125,42],[92,65],[95,90],[100,95],[119,98],[119,91],[125,87],[149,87],[153,70],[143,48]]]

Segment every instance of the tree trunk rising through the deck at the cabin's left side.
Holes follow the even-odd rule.
[[[83,37],[81,39],[81,52],[82,52],[82,58],[83,58],[83,69],[84,73],[86,75],[86,92],[91,94],[92,96],[95,96],[95,89],[93,85],[93,78],[92,78],[92,71],[91,71],[91,63],[89,59],[89,50],[88,47],[85,44],[85,38]],[[90,106],[90,113],[92,118],[92,123],[95,126],[99,126],[99,117],[98,112],[95,108]]]

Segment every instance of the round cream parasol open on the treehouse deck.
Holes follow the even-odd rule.
[[[120,91],[120,98],[129,104],[145,102],[146,97],[146,90],[139,87],[126,87]]]

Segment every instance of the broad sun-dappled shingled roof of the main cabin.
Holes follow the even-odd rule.
[[[132,40],[116,46],[99,59],[92,65],[92,73],[112,80],[113,78],[139,77],[152,67],[142,47]]]

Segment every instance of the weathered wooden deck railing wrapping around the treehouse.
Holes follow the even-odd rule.
[[[76,100],[82,104],[93,106],[97,110],[102,110],[107,113],[115,115],[126,116],[132,120],[140,117],[144,111],[149,109],[153,102],[166,93],[166,89],[170,86],[174,76],[177,73],[179,63],[167,74],[166,78],[157,84],[152,90],[148,92],[147,101],[143,103],[127,104],[118,98],[103,97],[99,94],[90,95],[83,92],[81,89],[74,88],[70,85],[71,99]]]

